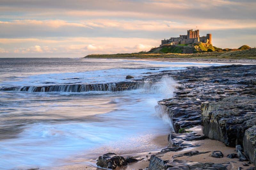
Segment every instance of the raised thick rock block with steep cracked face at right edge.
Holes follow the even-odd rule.
[[[243,146],[255,164],[256,98],[227,97],[218,102],[204,102],[201,110],[204,135],[226,146]]]

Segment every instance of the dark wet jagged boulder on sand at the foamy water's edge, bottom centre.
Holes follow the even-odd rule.
[[[115,153],[106,153],[97,159],[96,165],[103,168],[116,169],[117,167],[127,165],[127,161],[124,157],[116,155]]]

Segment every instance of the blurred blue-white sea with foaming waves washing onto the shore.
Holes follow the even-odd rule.
[[[0,169],[96,167],[107,152],[159,150],[152,141],[170,133],[172,123],[157,101],[172,97],[177,83],[165,75],[148,83],[148,77],[212,65],[224,63],[0,58]],[[136,80],[142,90],[112,89]],[[88,84],[104,88],[81,90]]]

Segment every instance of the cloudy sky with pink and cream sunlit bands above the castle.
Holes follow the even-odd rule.
[[[0,57],[148,51],[199,29],[213,46],[256,46],[255,0],[1,0]]]

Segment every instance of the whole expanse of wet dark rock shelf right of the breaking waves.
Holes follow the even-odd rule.
[[[240,144],[241,150],[237,154],[243,159],[239,160],[245,161],[248,157],[250,159],[248,164],[254,161],[255,165],[256,65],[189,67],[187,70],[164,71],[163,74],[172,76],[179,83],[174,97],[158,102],[159,105],[166,107],[173,123],[174,132],[169,134],[168,147],[182,149],[197,147],[196,141],[209,137],[220,140],[227,146],[235,147]],[[202,107],[201,103],[203,103]],[[193,127],[199,125],[203,125],[203,136],[193,132]],[[167,150],[179,152],[170,148]],[[233,157],[233,155],[237,157],[237,154],[229,154],[228,158],[238,159]],[[151,155],[148,169],[234,168],[230,165],[232,161],[229,164],[211,162],[180,164],[175,161],[175,157],[177,155],[166,152]],[[172,167],[167,166],[168,164]],[[243,163],[242,167],[248,167],[248,164]]]

